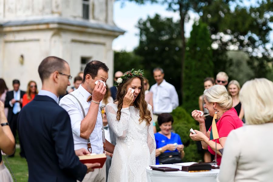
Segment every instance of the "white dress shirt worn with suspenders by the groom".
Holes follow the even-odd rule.
[[[81,85],[79,88],[71,92],[77,99],[80,101],[81,105],[84,108],[85,116],[88,113],[90,102],[87,102],[87,99],[91,96],[84,87]],[[80,123],[84,119],[82,109],[78,101],[71,95],[64,96],[59,105],[67,111],[71,120],[72,134],[74,140],[74,150],[85,148],[87,149],[87,140],[80,138]],[[101,103],[100,103],[101,106]],[[99,107],[100,107],[99,106]],[[97,116],[97,122],[93,132],[91,133],[89,139],[92,147],[92,153],[103,153],[103,143],[102,143],[102,117],[101,111],[99,109]]]

